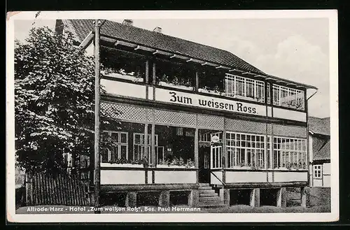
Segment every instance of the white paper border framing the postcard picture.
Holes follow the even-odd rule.
[[[6,76],[6,210],[9,222],[332,222],[339,220],[339,143],[337,10],[188,10],[188,11],[42,11],[37,20],[66,18],[133,19],[218,19],[218,18],[316,18],[329,19],[330,129],[331,129],[331,213],[152,213],[152,214],[15,214],[14,144],[14,20],[34,20],[37,12],[8,16]]]

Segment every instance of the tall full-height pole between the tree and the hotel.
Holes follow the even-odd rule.
[[[99,105],[100,105],[100,79],[99,79],[99,27],[101,21],[94,20],[94,206],[99,207],[100,167],[99,167]],[[98,208],[96,209],[98,210]],[[100,213],[95,211],[95,213]]]

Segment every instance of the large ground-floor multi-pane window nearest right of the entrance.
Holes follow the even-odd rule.
[[[265,167],[265,136],[226,132],[228,168]]]

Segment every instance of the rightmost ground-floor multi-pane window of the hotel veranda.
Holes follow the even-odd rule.
[[[274,137],[272,168],[307,168],[306,140]]]

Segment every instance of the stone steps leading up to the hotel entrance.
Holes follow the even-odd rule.
[[[224,206],[220,196],[216,194],[215,190],[207,183],[200,183],[198,188],[200,195],[199,207],[221,207]]]

